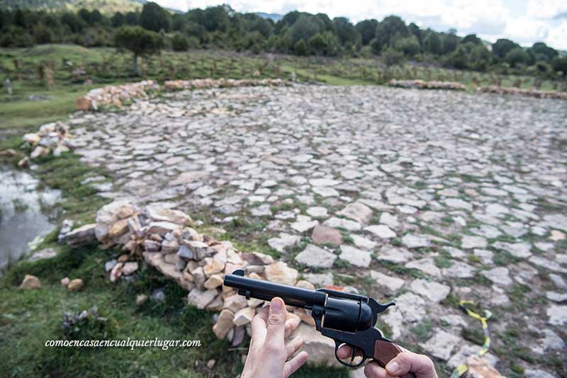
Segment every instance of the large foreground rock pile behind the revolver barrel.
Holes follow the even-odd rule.
[[[237,295],[236,290],[223,287],[225,274],[243,269],[247,277],[315,288],[310,282],[300,280],[298,271],[286,263],[274,261],[263,253],[238,251],[230,241],[218,241],[191,226],[191,217],[179,210],[155,205],[140,209],[127,200],[101,207],[96,213],[96,238],[103,246],[122,246],[130,251],[129,256],[105,264],[110,280],[115,282],[134,273],[138,269],[135,258],[141,255],[146,263],[187,290],[190,304],[219,312],[213,332],[218,338],[228,338],[232,345],[239,345],[245,334],[250,334],[250,321],[264,301],[247,300]],[[309,312],[293,309],[289,316],[304,322],[296,332],[305,341],[305,348],[313,348],[315,355],[322,356],[317,362],[332,362],[332,340],[315,331]]]

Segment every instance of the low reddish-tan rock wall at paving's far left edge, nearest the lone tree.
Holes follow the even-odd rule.
[[[98,110],[99,107],[108,105],[120,107],[124,101],[147,98],[154,91],[159,91],[159,84],[153,80],[94,88],[85,96],[77,98],[75,108],[77,110]]]

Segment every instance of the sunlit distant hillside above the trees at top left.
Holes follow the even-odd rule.
[[[98,9],[101,13],[129,12],[142,8],[145,0],[0,0],[0,10],[77,11]]]

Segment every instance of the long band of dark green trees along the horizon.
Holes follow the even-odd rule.
[[[499,39],[486,45],[475,34],[461,38],[455,30],[424,29],[398,16],[354,24],[344,17],[292,11],[274,22],[255,13],[238,13],[227,5],[171,13],[152,2],[141,11],[109,15],[84,8],[77,12],[0,11],[0,46],[44,43],[130,50],[135,71],[138,56],[162,49],[223,48],[320,57],[379,55],[388,66],[410,59],[498,74],[567,76],[567,57],[560,57],[544,42],[524,48]]]

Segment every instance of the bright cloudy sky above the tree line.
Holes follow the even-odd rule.
[[[289,11],[345,16],[353,23],[366,18],[380,21],[396,14],[407,23],[459,35],[476,33],[485,40],[510,38],[530,46],[543,41],[567,50],[567,0],[154,0],[162,6],[186,11],[230,4],[239,12],[285,14]]]

